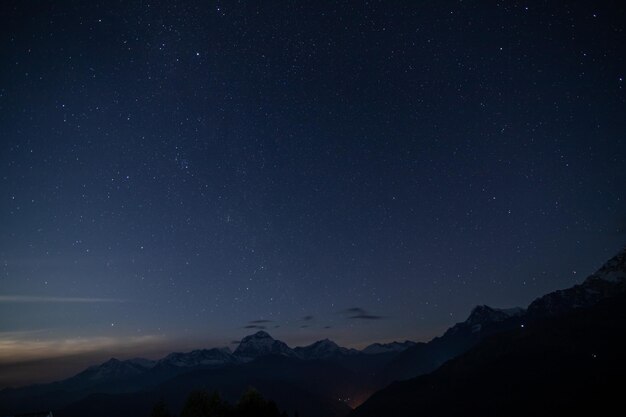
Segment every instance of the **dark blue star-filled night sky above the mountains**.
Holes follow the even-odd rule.
[[[3,1],[0,386],[580,282],[626,241],[626,13],[572,3]]]

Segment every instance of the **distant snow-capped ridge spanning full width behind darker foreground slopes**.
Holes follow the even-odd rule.
[[[259,331],[244,337],[234,352],[228,348],[196,349],[185,353],[173,352],[157,361],[111,358],[65,380],[4,389],[0,391],[0,413],[22,411],[24,407],[32,406],[33,399],[49,404],[51,408],[59,408],[93,393],[118,395],[145,391],[172,378],[184,378],[186,374],[219,371],[227,375],[240,366],[269,375],[263,366],[271,363],[310,362],[313,368],[303,368],[310,371],[318,362],[332,364],[340,373],[359,375],[361,380],[370,381],[368,386],[380,387],[392,381],[430,373],[494,335],[523,328],[526,323],[588,308],[615,293],[624,292],[625,283],[626,250],[622,250],[582,283],[538,297],[526,310],[479,305],[472,309],[465,321],[427,343],[373,343],[358,351],[323,339],[291,348],[269,333]],[[292,362],[276,362],[277,358]]]

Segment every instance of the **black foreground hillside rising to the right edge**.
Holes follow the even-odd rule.
[[[488,338],[429,375],[391,384],[351,417],[623,415],[624,352],[622,293]]]

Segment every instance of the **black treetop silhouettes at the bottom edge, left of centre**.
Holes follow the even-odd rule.
[[[152,409],[151,417],[175,417],[165,402],[159,401]],[[180,412],[179,417],[289,417],[287,412],[282,413],[271,400],[266,400],[254,388],[249,388],[232,405],[222,399],[217,391],[209,393],[206,390],[193,391]],[[294,417],[298,417],[296,411]]]

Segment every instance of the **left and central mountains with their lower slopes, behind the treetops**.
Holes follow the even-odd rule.
[[[411,343],[375,344],[359,351],[325,339],[292,349],[258,331],[234,351],[175,352],[156,361],[111,358],[62,381],[4,389],[0,415],[33,411],[34,404],[60,416],[146,414],[154,398],[182,405],[196,382],[219,389],[231,401],[254,385],[285,407],[306,409],[303,416],[346,415],[354,401],[379,387],[375,371]]]

